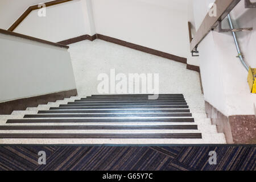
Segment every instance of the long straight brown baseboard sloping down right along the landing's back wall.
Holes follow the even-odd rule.
[[[121,45],[121,46],[129,47],[129,48],[132,48],[132,49],[135,49],[135,50],[138,50],[138,51],[150,53],[152,55],[164,57],[164,58],[174,60],[174,61],[177,61],[177,62],[180,62],[180,63],[185,63],[185,64],[187,63],[187,58],[171,55],[170,53],[161,52],[161,51],[151,49],[151,48],[147,48],[147,47],[144,47],[144,46],[139,46],[137,44],[125,42],[123,40],[115,39],[115,38],[112,38],[112,37],[109,37],[109,36],[97,34],[97,39],[101,39],[101,40],[105,40],[107,42],[111,42],[111,43],[118,44],[118,45]]]

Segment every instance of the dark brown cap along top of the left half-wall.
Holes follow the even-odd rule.
[[[67,48],[67,49],[69,48],[68,46],[65,46],[63,44],[49,42],[47,40],[38,39],[38,38],[34,38],[32,36],[27,36],[27,35],[23,35],[23,34],[18,34],[16,32],[11,32],[11,31],[8,31],[8,30],[3,30],[1,28],[0,28],[0,34],[16,36],[16,37],[19,37],[19,38],[28,39],[28,40],[32,40],[32,41],[35,41],[35,42],[40,42],[40,43],[43,43],[43,44],[48,44],[48,45],[51,45],[51,46],[62,47],[62,48]]]

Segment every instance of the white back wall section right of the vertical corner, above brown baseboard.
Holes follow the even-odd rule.
[[[93,0],[92,5],[98,34],[187,57],[186,0]]]

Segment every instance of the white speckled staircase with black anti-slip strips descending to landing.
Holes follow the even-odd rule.
[[[183,94],[92,95],[0,115],[0,144],[226,143]]]

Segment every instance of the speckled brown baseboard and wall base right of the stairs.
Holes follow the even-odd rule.
[[[226,117],[205,101],[207,117],[217,126],[218,133],[224,133],[229,144],[256,144],[255,115],[232,115]]]

